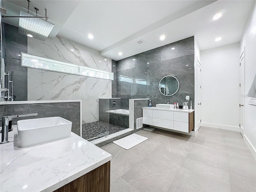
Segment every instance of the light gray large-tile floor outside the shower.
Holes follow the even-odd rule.
[[[196,137],[141,130],[148,140],[112,154],[112,192],[256,191],[256,161],[239,132],[201,127]]]

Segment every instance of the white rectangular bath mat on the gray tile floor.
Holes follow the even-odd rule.
[[[148,138],[137,135],[137,134],[134,133],[134,134],[128,135],[124,138],[115,140],[115,141],[113,141],[113,143],[119,145],[120,147],[122,147],[126,150],[128,150],[128,149],[140,144],[141,142],[143,142],[147,139]]]

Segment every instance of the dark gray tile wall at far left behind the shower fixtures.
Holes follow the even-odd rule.
[[[20,66],[21,60],[18,54],[28,52],[27,36],[18,33],[18,27],[2,22],[3,26],[3,57],[5,60],[5,72],[13,71],[13,91],[16,101],[28,100],[28,70]],[[7,78],[6,78],[7,83]],[[6,87],[8,85],[6,84]]]

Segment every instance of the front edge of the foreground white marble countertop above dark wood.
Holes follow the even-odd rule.
[[[77,172],[76,174],[73,174],[73,175],[69,176],[68,178],[65,178],[64,180],[42,190],[41,192],[52,192],[54,190],[57,190],[58,188],[61,188],[62,186],[76,180],[77,178],[83,176],[84,174],[87,174],[88,172],[98,168],[99,166],[102,166],[106,162],[109,162],[111,159],[112,159],[112,156],[109,156],[108,158],[105,158],[104,160],[101,160],[100,162],[97,162],[96,164],[94,164],[80,172]]]

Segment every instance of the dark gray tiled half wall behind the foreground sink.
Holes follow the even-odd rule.
[[[0,126],[2,126],[2,116],[31,113],[38,113],[38,115],[32,117],[14,118],[12,120],[12,125],[16,125],[18,120],[23,119],[60,116],[71,121],[72,132],[80,136],[80,102],[0,105]]]

